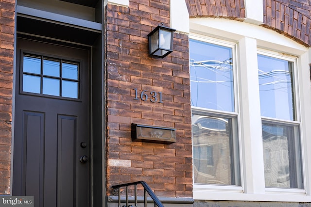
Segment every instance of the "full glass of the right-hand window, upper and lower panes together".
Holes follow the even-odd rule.
[[[303,188],[299,124],[294,122],[293,73],[294,62],[258,54],[264,175],[268,188]]]

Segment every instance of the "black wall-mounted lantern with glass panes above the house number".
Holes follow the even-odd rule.
[[[149,54],[164,58],[173,52],[173,35],[176,30],[159,24],[148,36]]]

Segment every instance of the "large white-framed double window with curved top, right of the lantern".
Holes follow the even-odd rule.
[[[311,202],[309,49],[228,19],[189,37],[193,198]]]

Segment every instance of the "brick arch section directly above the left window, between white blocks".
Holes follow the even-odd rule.
[[[190,17],[245,18],[244,0],[186,0]]]

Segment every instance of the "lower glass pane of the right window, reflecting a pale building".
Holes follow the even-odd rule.
[[[297,126],[262,123],[265,186],[303,188]]]

